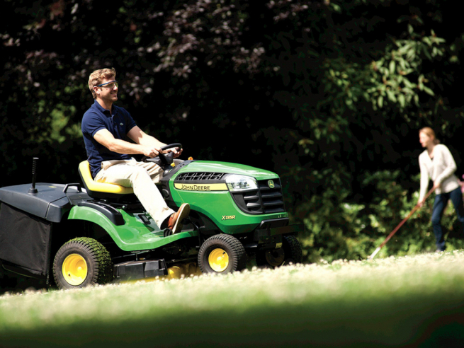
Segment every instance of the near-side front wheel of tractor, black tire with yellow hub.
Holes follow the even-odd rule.
[[[217,234],[201,245],[198,266],[203,273],[227,274],[241,271],[247,266],[247,253],[234,236]]]

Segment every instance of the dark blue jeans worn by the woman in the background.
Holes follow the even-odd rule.
[[[461,192],[460,187],[451,192],[436,195],[431,219],[436,239],[436,250],[445,250],[445,236],[443,234],[443,229],[441,228],[441,216],[443,216],[443,211],[445,210],[446,204],[448,204],[448,200],[450,198],[451,202],[453,202],[456,214],[458,214],[458,220],[461,224],[463,224],[461,227],[461,233],[464,233],[463,193]]]

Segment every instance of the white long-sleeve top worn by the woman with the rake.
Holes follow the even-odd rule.
[[[422,152],[419,155],[419,167],[421,168],[419,200],[425,196],[430,179],[441,183],[441,186],[435,190],[436,195],[451,192],[459,187],[458,178],[454,175],[457,169],[456,163],[445,145],[435,145],[433,159],[430,158],[427,150]]]

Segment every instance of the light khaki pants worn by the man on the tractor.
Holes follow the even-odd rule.
[[[177,160],[175,160],[177,162]],[[159,192],[156,182],[161,180],[163,169],[152,162],[130,160],[103,161],[95,177],[97,182],[109,182],[132,187],[134,194],[159,227],[174,210],[170,209]]]

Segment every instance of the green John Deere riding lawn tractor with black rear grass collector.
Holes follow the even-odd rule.
[[[181,147],[171,144],[164,149]],[[0,188],[0,282],[13,274],[52,281],[60,289],[191,274],[240,271],[247,260],[279,267],[301,262],[281,181],[267,170],[215,161],[174,163],[171,153],[149,158],[164,168],[157,187],[166,204],[191,214],[179,233],[161,230],[130,187],[91,178]]]

